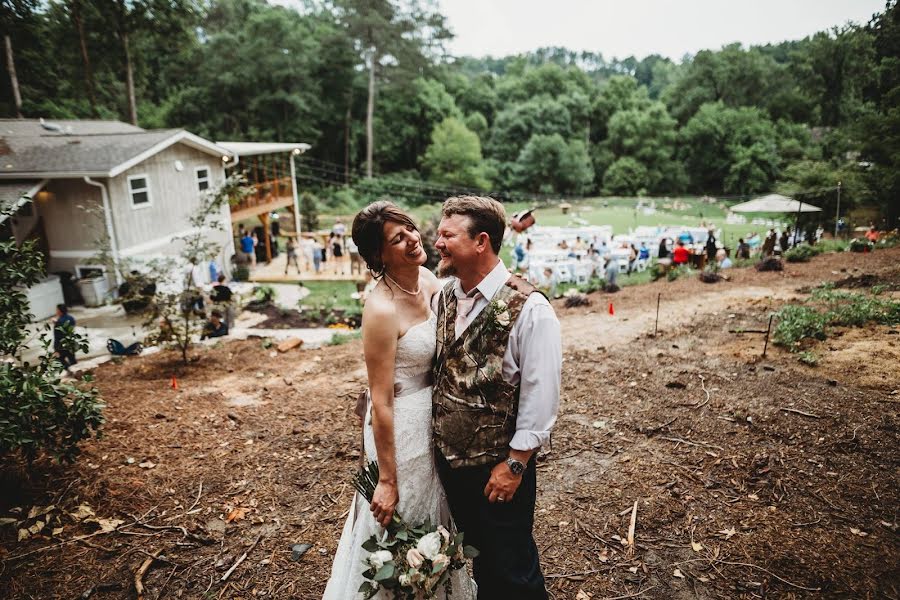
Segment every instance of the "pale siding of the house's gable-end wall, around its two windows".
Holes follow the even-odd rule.
[[[182,171],[175,170],[175,161],[182,162]],[[178,252],[180,244],[172,243],[171,238],[190,230],[189,217],[200,205],[197,167],[209,168],[210,187],[221,185],[225,180],[220,158],[183,144],[175,144],[109,180],[113,227],[123,256],[171,256]],[[151,206],[132,208],[128,178],[135,175],[147,177]],[[227,207],[221,218],[225,231],[213,232],[213,237],[229,248],[230,212]]]

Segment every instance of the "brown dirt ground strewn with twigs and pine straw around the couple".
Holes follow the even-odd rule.
[[[848,279],[900,281],[900,249],[557,305],[535,526],[553,598],[900,598],[900,328],[837,331],[816,367],[732,333]],[[5,465],[0,518],[50,519],[19,542],[0,526],[0,597],[135,598],[142,567],[148,599],[321,596],[358,456],[360,342],[197,352],[186,370],[166,352],[99,367],[103,439],[30,479]],[[297,562],[294,544],[310,545]]]

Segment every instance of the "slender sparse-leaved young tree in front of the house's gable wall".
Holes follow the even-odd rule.
[[[222,208],[246,197],[250,188],[240,175],[233,175],[216,189],[208,190],[189,220],[192,233],[176,238],[182,242],[177,258],[155,259],[146,264],[147,276],[156,282],[155,294],[145,309],[148,341],[178,350],[183,364],[188,350],[200,335],[205,313],[199,308],[203,290],[194,281],[194,271],[213,260],[222,250],[210,232],[224,231]]]

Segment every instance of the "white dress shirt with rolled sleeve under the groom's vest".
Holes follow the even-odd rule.
[[[482,297],[475,302],[463,326],[457,327],[456,337],[484,310],[509,277],[501,260],[475,286]],[[466,296],[459,279],[453,290],[457,298]],[[562,340],[556,313],[542,294],[531,294],[513,325],[503,355],[503,379],[520,386],[516,433],[509,442],[510,448],[534,450],[550,441],[550,429],[559,410],[561,368]]]

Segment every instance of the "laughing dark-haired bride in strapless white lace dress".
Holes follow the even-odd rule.
[[[449,528],[450,515],[438,479],[431,440],[431,368],[436,317],[431,297],[437,278],[422,265],[427,256],[412,219],[391,202],[375,202],[353,220],[353,241],[378,284],[363,310],[363,353],[371,400],[363,425],[367,460],[380,478],[372,503],[353,497],[338,543],[325,600],[361,598],[362,544],[381,533],[398,511],[410,524],[430,520]],[[466,569],[454,571],[452,600],[475,597]],[[380,591],[375,598],[387,598]],[[444,598],[443,591],[439,596]]]

